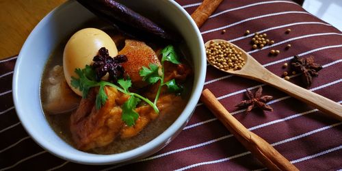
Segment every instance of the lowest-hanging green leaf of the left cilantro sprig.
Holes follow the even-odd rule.
[[[131,96],[123,105],[122,105],[122,116],[121,119],[129,126],[133,126],[135,124],[135,120],[139,118],[139,114],[134,111],[135,107],[137,107],[137,103],[139,103],[140,98],[135,98]]]

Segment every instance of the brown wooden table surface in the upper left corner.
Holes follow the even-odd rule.
[[[29,33],[66,0],[0,0],[0,60],[18,55]]]

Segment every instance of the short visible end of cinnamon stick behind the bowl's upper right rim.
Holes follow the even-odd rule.
[[[192,19],[194,19],[197,27],[201,27],[211,14],[218,8],[218,5],[223,0],[204,0],[200,6],[192,13]]]

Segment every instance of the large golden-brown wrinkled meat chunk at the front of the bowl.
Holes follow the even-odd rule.
[[[105,87],[105,92],[108,98],[101,109],[96,110],[97,90],[92,89],[88,98],[81,100],[79,108],[70,117],[70,131],[80,150],[106,146],[113,142],[124,126],[120,105],[127,101],[129,96],[111,87]]]

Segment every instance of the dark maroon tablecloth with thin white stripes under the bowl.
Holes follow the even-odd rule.
[[[177,0],[190,14],[200,0]],[[222,34],[222,29],[226,33]],[[252,33],[266,33],[272,47],[251,49]],[[290,34],[285,34],[291,29]],[[292,1],[226,0],[200,29],[205,41],[222,38],[253,55],[276,75],[293,55],[314,55],[324,68],[309,90],[342,102],[342,33],[304,11]],[[287,44],[292,47],[285,50]],[[270,57],[271,49],[280,54]],[[23,129],[12,101],[12,75],[16,57],[0,61],[0,170],[262,170],[257,161],[202,104],[187,127],[168,146],[143,161],[127,166],[86,166],[49,154]],[[290,80],[300,85],[300,77]],[[273,112],[252,110],[245,114],[237,105],[246,89],[263,86],[274,96]],[[326,117],[295,98],[257,81],[226,75],[208,66],[209,88],[235,118],[263,137],[300,170],[342,168],[342,122]],[[342,112],[342,111],[341,111]]]

